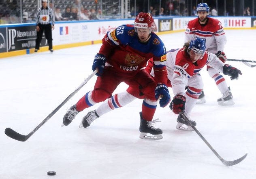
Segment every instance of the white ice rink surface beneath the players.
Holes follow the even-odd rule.
[[[230,59],[256,60],[256,30],[226,30],[225,53]],[[184,33],[161,35],[166,50],[181,48]],[[54,44],[54,40],[53,40]],[[87,112],[61,127],[66,109],[93,89],[94,76],[28,141],[7,137],[4,129],[27,135],[92,73],[101,44],[23,55],[0,60],[0,179],[254,179],[256,176],[256,67],[227,62],[243,75],[231,81],[235,105],[220,106],[222,95],[201,70],[207,103],[196,105],[191,119],[225,160],[247,158],[224,166],[195,132],[175,128],[177,115],[158,106],[154,126],[163,130],[158,141],[139,139],[142,100],[109,112],[89,128],[78,126]],[[125,91],[120,84],[115,93]],[[172,90],[171,98],[173,98]],[[47,176],[55,171],[55,176]]]

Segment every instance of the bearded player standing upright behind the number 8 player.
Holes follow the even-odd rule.
[[[185,30],[185,43],[195,37],[204,38],[206,40],[206,50],[217,55],[225,63],[226,55],[223,51],[227,40],[222,24],[217,19],[207,17],[209,15],[209,6],[206,3],[198,4],[196,11],[198,18],[189,21]],[[222,93],[222,97],[218,99],[218,104],[233,105],[233,96],[225,78],[212,67],[207,66],[207,71]],[[205,102],[205,95],[202,91],[197,103]]]

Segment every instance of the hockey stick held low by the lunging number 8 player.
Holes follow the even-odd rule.
[[[226,166],[232,166],[235,164],[238,164],[239,162],[241,162],[243,159],[245,159],[245,157],[247,156],[247,154],[245,154],[244,156],[242,156],[241,158],[237,159],[237,160],[233,160],[233,161],[227,161],[224,160],[219,154],[218,152],[216,152],[216,150],[213,149],[213,147],[209,144],[209,142],[205,139],[205,137],[203,137],[203,135],[201,135],[201,133],[196,129],[196,127],[190,122],[190,120],[187,118],[186,114],[184,114],[183,112],[179,113],[183,119],[186,120],[186,122],[188,122],[188,124],[190,124],[190,126],[194,129],[194,131],[196,131],[196,133],[199,135],[199,137],[201,137],[201,139],[203,139],[203,141],[206,143],[206,145],[211,149],[211,151],[220,159],[220,161],[226,165]]]

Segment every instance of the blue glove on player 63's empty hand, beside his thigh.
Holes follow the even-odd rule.
[[[165,84],[158,84],[155,91],[156,100],[159,100],[160,107],[165,107],[170,101],[171,96],[169,94],[168,87]]]

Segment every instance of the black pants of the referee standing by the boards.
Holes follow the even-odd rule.
[[[45,38],[48,41],[49,50],[52,49],[52,37],[51,37],[51,24],[38,24],[40,30],[36,32],[36,49],[39,50],[40,43],[43,37],[43,32],[45,31]]]

